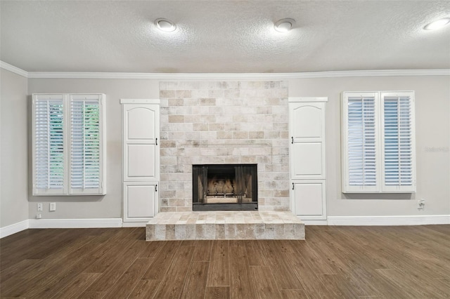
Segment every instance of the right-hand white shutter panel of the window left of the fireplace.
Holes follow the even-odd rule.
[[[101,95],[70,95],[70,192],[102,189]]]

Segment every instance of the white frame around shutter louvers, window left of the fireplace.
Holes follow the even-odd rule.
[[[99,106],[99,186],[93,189],[72,188],[71,186],[71,103],[75,98],[98,100]],[[63,101],[63,187],[58,189],[37,189],[36,167],[36,105],[37,100],[60,99]],[[33,93],[32,94],[32,195],[33,196],[75,196],[106,194],[106,117],[105,94],[103,93]]]

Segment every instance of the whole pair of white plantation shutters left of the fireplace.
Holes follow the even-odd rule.
[[[104,94],[33,95],[33,195],[105,194]]]

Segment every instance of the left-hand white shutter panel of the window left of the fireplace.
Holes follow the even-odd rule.
[[[33,190],[35,194],[60,194],[65,183],[64,95],[33,98]]]

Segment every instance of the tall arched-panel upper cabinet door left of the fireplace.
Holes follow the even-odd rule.
[[[159,105],[124,105],[125,182],[160,179],[159,114]]]

